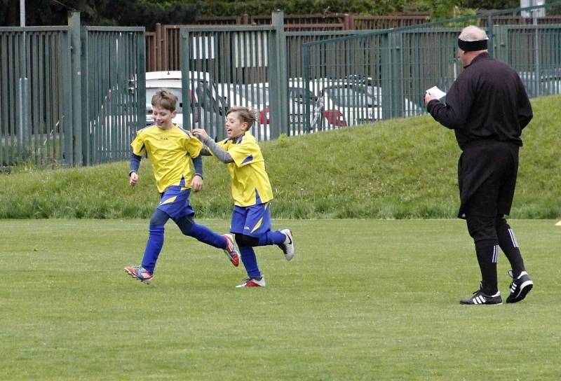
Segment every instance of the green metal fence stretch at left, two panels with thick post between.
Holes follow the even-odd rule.
[[[0,167],[130,155],[146,120],[144,27],[0,27]]]

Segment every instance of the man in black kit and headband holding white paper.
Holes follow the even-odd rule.
[[[425,103],[435,120],[454,130],[462,150],[458,216],[466,219],[475,242],[482,281],[480,289],[460,303],[502,303],[496,279],[499,247],[512,266],[509,275],[513,281],[506,303],[515,303],[524,299],[534,284],[504,215],[511,211],[522,146],[520,134],[532,119],[532,106],[516,71],[489,57],[484,30],[464,28],[458,46],[464,71],[448,91],[446,103],[430,93]]]

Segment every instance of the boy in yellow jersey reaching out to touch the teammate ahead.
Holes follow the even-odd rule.
[[[294,256],[292,233],[288,229],[271,231],[269,202],[273,191],[265,170],[265,161],[257,140],[249,132],[255,123],[255,113],[246,107],[232,107],[226,114],[224,141],[215,143],[203,129],[193,134],[205,147],[201,155],[214,155],[228,166],[231,191],[234,198],[230,232],[236,235],[241,261],[248,278],[237,287],[264,287],[263,277],[253,247],[276,244],[283,250],[287,261]]]

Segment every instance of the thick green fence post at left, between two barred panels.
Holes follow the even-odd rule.
[[[68,26],[70,27],[70,60],[71,60],[71,76],[70,81],[72,81],[72,118],[69,123],[70,129],[72,131],[72,158],[69,158],[71,165],[82,165],[83,155],[82,155],[82,73],[81,73],[81,25],[80,25],[80,13],[76,11],[71,11],[68,17]],[[67,134],[70,136],[70,134]]]

